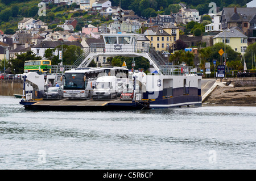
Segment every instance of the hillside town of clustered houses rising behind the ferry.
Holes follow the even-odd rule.
[[[138,44],[142,47],[149,45],[154,47],[156,52],[168,60],[175,60],[174,54],[177,50],[193,53],[192,63],[197,71],[203,69],[200,49],[212,47],[217,43],[225,43],[234,52],[242,56],[247,47],[254,44],[256,40],[256,0],[246,4],[246,7],[224,7],[215,14],[203,14],[196,9],[186,7],[184,3],[179,3],[179,11],[171,12],[168,15],[157,14],[145,18],[138,16],[133,10],[124,10],[119,6],[112,6],[111,1],[96,0],[55,0],[42,2],[63,7],[76,3],[73,13],[86,11],[88,15],[108,17],[109,22],[93,24],[92,21],[79,22],[79,17],[69,18],[64,22],[52,23],[43,20],[24,17],[18,22],[17,31],[13,34],[6,34],[0,30],[0,59],[14,60],[17,55],[29,51],[35,56],[47,59],[47,49],[54,49],[53,56],[58,55],[56,47],[63,45],[75,45],[85,51],[93,43],[104,43],[101,33],[139,33]],[[217,7],[218,10],[218,7]],[[55,16],[56,17],[56,16]],[[205,18],[209,18],[205,20]],[[54,22],[54,20],[53,20]],[[189,25],[197,23],[204,25],[202,28],[191,27]],[[197,32],[199,29],[199,33]],[[185,33],[184,33],[185,32]],[[168,52],[168,56],[164,54]],[[229,57],[227,57],[229,58]],[[108,57],[97,57],[95,66],[110,65]],[[228,59],[227,59],[228,60]],[[226,61],[226,60],[225,60]],[[183,61],[175,62],[181,64]],[[71,62],[73,63],[73,62]],[[5,65],[6,66],[6,65]],[[251,65],[253,68],[254,64]],[[255,67],[255,66],[254,66]],[[7,73],[13,72],[7,68]]]

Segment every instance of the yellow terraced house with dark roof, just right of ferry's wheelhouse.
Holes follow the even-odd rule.
[[[158,51],[172,49],[172,44],[179,39],[179,28],[173,24],[149,27],[144,35],[150,40],[150,45]]]

